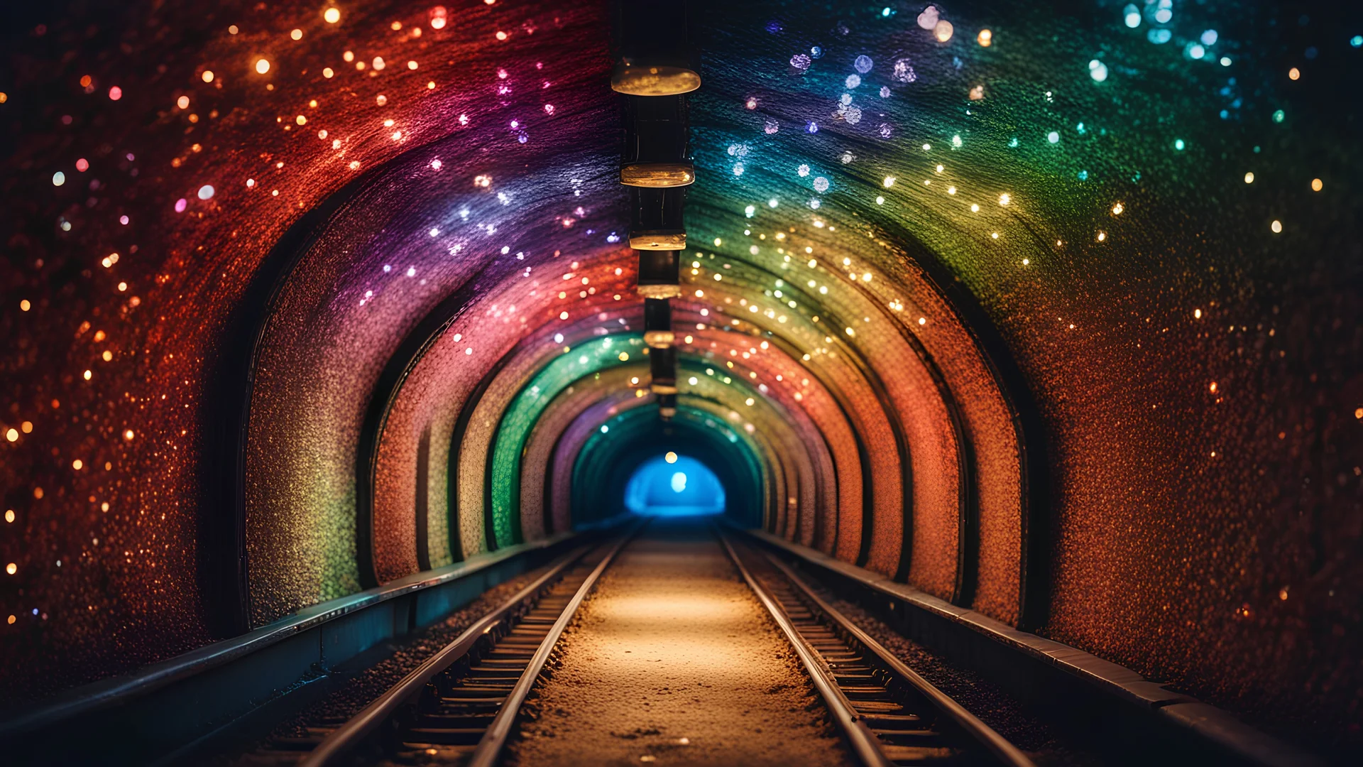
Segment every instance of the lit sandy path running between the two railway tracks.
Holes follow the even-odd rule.
[[[703,524],[654,520],[559,646],[511,762],[851,764],[799,659]]]

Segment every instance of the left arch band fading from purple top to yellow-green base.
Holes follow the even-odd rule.
[[[499,68],[488,61],[473,70],[474,82],[461,83],[465,93],[455,104],[425,105],[421,120],[457,127],[453,135],[403,154],[349,201],[293,266],[271,306],[247,435],[248,573],[256,621],[358,585],[354,448],[368,393],[393,347],[476,274],[489,285],[521,277],[523,289],[526,270],[555,258],[527,243],[547,233],[581,242],[581,231],[566,231],[571,228],[559,218],[609,190],[587,183],[602,175],[601,165],[590,162],[596,147],[582,145],[583,154],[566,164],[553,160],[560,142],[570,135],[581,141],[602,119],[602,100],[587,96],[600,70],[562,71],[562,57],[571,57],[567,50],[536,46],[533,53],[555,53],[563,63],[545,56],[548,63]],[[507,98],[474,96],[500,89]],[[525,96],[517,98],[519,93]],[[560,96],[567,100],[562,109],[549,115],[541,108]],[[583,109],[583,102],[596,109]],[[518,128],[508,130],[508,121]],[[519,142],[521,132],[533,132],[536,141]],[[540,183],[545,176],[559,183]],[[605,246],[593,239],[596,247]],[[515,314],[502,310],[488,313]],[[477,332],[466,334],[470,348],[484,340]],[[485,366],[488,359],[477,362]],[[414,569],[413,540],[405,534],[413,517],[402,525],[386,524],[390,519],[380,516],[375,525],[380,580]],[[406,561],[394,561],[395,550]]]

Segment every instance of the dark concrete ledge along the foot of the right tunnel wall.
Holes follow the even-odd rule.
[[[1272,767],[1325,762],[1261,733],[1227,711],[1165,689],[1096,655],[1018,631],[890,579],[765,531],[746,531],[788,558],[834,576],[901,633],[970,667],[1018,699],[1054,711],[1094,738],[1111,738],[1139,759]],[[838,584],[837,581],[842,583]],[[1172,749],[1172,752],[1169,751]],[[1172,753],[1172,759],[1171,759]]]

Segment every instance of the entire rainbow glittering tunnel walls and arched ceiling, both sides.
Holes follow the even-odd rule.
[[[1329,16],[692,5],[669,429],[780,535],[1337,722],[1355,108],[1278,71],[1356,82]],[[19,42],[72,55],[0,82],[14,695],[598,519],[660,434],[607,10],[428,11]]]

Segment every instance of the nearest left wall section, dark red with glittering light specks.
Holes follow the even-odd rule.
[[[587,161],[590,111],[604,108],[605,127],[613,126],[609,91],[593,104],[574,90],[608,66],[604,7],[459,3],[440,19],[394,1],[346,4],[334,20],[323,11],[316,3],[97,3],[7,37],[15,79],[4,82],[3,119],[14,153],[0,205],[0,336],[10,349],[0,379],[5,424],[22,426],[0,464],[4,505],[15,512],[0,542],[15,569],[0,592],[0,620],[14,616],[0,637],[7,695],[42,695],[213,637],[198,538],[211,471],[200,464],[204,414],[219,403],[206,401],[206,390],[234,307],[304,212],[461,130],[477,139],[463,156],[453,145],[444,162],[474,191],[480,151],[510,162],[507,153],[521,150],[525,165],[571,146]],[[590,179],[564,176],[568,198],[570,179]],[[545,224],[582,205],[547,197]],[[424,221],[409,213],[402,225]],[[373,252],[371,239],[369,248],[323,255],[338,270],[350,257],[368,269],[369,261],[382,266],[382,255],[424,255],[414,242],[425,227],[395,233],[386,254]],[[371,278],[363,269],[352,278]],[[356,284],[318,289],[357,308]],[[383,319],[397,333],[420,310],[413,303],[412,314]],[[313,319],[333,322],[335,333],[342,315],[335,306]],[[354,329],[350,349],[324,345],[318,353],[331,356],[319,364],[380,351],[375,345],[393,337]],[[372,367],[357,364],[324,392],[328,401],[363,408]],[[307,367],[264,373],[264,385],[301,375],[281,385],[308,392]],[[281,414],[264,408],[259,418]],[[320,480],[339,460],[328,454],[346,449],[331,439],[350,429],[343,420],[309,426],[309,441],[290,441],[288,456],[320,450],[307,459],[319,459],[308,465]],[[328,509],[337,505],[343,517],[343,498]],[[288,506],[266,515],[262,531],[297,520]],[[274,568],[281,579],[262,590],[258,620],[354,588],[353,542],[328,538],[301,554],[256,550],[262,572]]]

